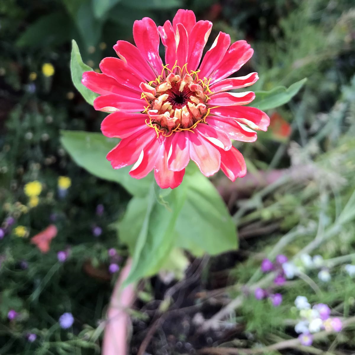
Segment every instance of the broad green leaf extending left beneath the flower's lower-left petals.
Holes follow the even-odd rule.
[[[144,179],[134,179],[129,175],[131,167],[115,170],[106,159],[118,142],[117,138],[107,138],[101,133],[61,131],[61,143],[79,166],[98,178],[118,182],[132,195],[146,195],[153,178],[151,174]]]

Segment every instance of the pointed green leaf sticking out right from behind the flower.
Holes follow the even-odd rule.
[[[278,86],[270,91],[256,91],[255,99],[249,106],[266,111],[284,105],[300,91],[306,81],[307,78],[304,78],[293,83],[289,88]]]

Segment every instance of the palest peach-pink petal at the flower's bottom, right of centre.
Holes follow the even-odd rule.
[[[204,176],[211,176],[220,168],[221,154],[218,149],[200,134],[188,132],[190,158],[196,163]]]

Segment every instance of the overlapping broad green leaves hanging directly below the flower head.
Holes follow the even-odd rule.
[[[197,256],[237,247],[235,225],[224,202],[200,171],[186,174],[164,201],[155,200],[154,189],[146,197],[133,197],[116,225],[120,240],[133,255],[127,282],[157,273],[174,247]]]

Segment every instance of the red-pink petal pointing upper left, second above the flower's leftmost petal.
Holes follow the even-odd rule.
[[[117,41],[113,46],[120,59],[127,63],[135,72],[147,81],[154,79],[155,74],[139,49],[127,41]]]

